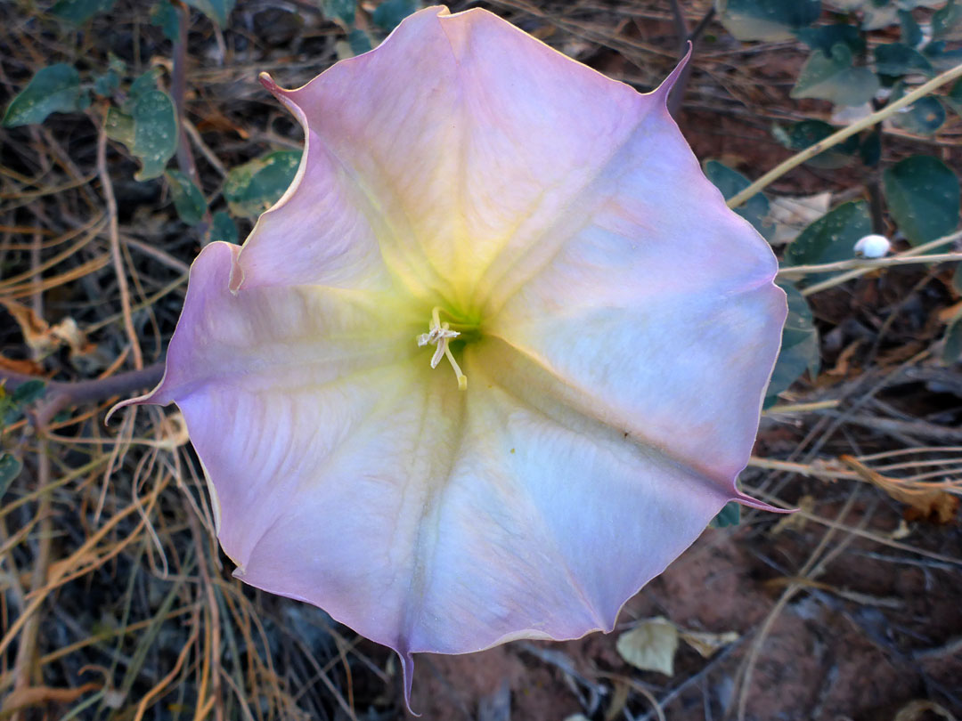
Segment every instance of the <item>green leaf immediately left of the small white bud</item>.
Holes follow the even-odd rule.
[[[785,250],[786,265],[816,265],[823,262],[848,261],[859,238],[871,235],[872,217],[864,200],[843,203],[798,234]],[[824,276],[825,274],[820,274]],[[817,276],[806,282],[817,283]]]

